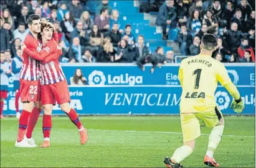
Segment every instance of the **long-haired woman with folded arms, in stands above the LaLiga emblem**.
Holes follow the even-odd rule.
[[[90,33],[90,50],[93,56],[96,56],[98,47],[103,43],[103,34],[98,29],[98,25],[93,25],[92,32]]]

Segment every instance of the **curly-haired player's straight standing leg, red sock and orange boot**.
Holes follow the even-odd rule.
[[[42,123],[42,131],[44,134],[44,142],[40,145],[41,148],[50,147],[50,130],[52,129],[52,108],[53,104],[45,104]]]

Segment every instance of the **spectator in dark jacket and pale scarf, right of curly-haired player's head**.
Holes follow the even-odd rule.
[[[73,32],[75,27],[75,20],[73,20],[72,15],[69,12],[65,13],[64,19],[60,23],[62,32],[65,33],[65,37],[70,41],[70,33]]]

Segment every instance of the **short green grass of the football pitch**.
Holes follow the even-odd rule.
[[[68,117],[52,119],[50,148],[15,148],[17,119],[1,120],[1,167],[165,167],[164,157],[183,144],[178,116],[80,117],[88,128],[83,146]],[[184,167],[206,167],[203,159],[211,129],[201,130]],[[42,117],[33,137],[42,143]],[[214,156],[221,167],[255,167],[255,116],[225,117]]]

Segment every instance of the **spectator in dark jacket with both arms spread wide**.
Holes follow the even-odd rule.
[[[253,35],[254,33],[255,30],[250,30],[249,33],[242,33],[240,30],[237,30],[237,23],[235,22],[231,24],[230,30],[224,29],[227,46],[232,53],[237,53],[242,37],[247,37],[249,34]]]

